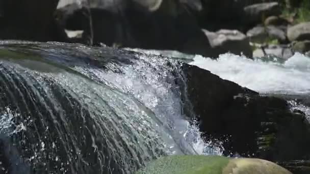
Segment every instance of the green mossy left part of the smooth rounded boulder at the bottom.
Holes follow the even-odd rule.
[[[152,161],[136,174],[220,174],[229,158],[222,156],[176,155]]]

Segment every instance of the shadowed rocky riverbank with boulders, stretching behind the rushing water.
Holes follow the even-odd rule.
[[[310,23],[291,1],[1,1],[0,39],[288,58],[310,49]],[[58,4],[58,6],[57,6]]]

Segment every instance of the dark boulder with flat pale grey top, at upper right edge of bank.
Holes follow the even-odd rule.
[[[260,3],[244,8],[245,18],[248,23],[263,23],[268,16],[278,16],[281,14],[280,6],[276,2]]]

